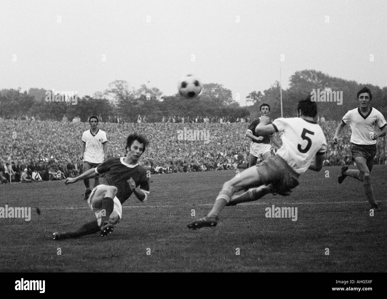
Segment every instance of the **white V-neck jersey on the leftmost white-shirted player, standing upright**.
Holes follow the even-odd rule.
[[[97,133],[93,135],[91,130],[87,130],[83,132],[82,141],[86,143],[83,160],[90,163],[102,163],[104,157],[103,144],[108,141],[106,133],[98,129]]]

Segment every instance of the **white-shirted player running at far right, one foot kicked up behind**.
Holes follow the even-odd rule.
[[[339,142],[339,133],[345,125],[351,127],[351,154],[356,162],[358,170],[348,169],[347,165],[341,167],[341,175],[338,178],[339,184],[349,176],[363,182],[364,191],[372,209],[378,209],[375,201],[370,173],[373,165],[373,158],[377,151],[377,140],[387,134],[386,121],[382,113],[371,107],[372,93],[370,89],[364,87],[357,94],[359,107],[349,110],[342,118],[342,122],[337,126],[333,143]],[[381,132],[376,133],[375,127],[379,127]]]

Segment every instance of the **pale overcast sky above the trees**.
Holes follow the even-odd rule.
[[[121,79],[173,95],[195,74],[245,105],[279,81],[280,67],[284,88],[303,69],[385,87],[386,3],[0,1],[0,89],[84,96]]]

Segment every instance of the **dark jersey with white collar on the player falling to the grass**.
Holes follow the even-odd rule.
[[[121,204],[132,195],[133,191],[129,188],[128,179],[132,178],[136,183],[136,187],[149,194],[149,178],[145,167],[129,165],[124,162],[124,157],[110,158],[96,168],[98,174],[105,174],[101,183],[106,183],[110,186],[117,187],[116,197]]]

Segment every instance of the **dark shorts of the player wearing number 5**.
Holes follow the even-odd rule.
[[[271,156],[257,165],[259,175],[265,185],[273,184],[279,193],[298,186],[300,175],[278,155]]]

